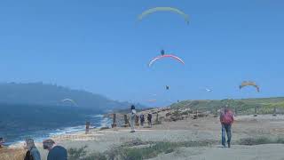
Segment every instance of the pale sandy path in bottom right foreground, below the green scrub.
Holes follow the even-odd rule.
[[[284,145],[233,146],[233,148],[178,148],[152,160],[283,160]]]

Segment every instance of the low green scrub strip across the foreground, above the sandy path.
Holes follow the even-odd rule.
[[[165,141],[148,141],[132,140],[122,144],[121,146],[114,146],[103,153],[94,152],[88,154],[85,148],[70,148],[68,155],[70,160],[107,160],[107,159],[123,159],[123,160],[142,160],[158,156],[159,154],[169,154],[174,152],[177,148],[196,148],[209,147],[217,144],[215,140],[204,141],[184,141],[184,142],[165,142]],[[147,144],[147,145],[146,145]],[[142,146],[140,148],[137,148]]]

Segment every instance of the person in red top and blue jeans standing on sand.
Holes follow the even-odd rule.
[[[228,148],[231,148],[231,139],[232,139],[232,124],[233,124],[233,112],[228,108],[228,105],[225,106],[224,110],[220,114],[220,122],[222,124],[222,145],[225,147],[225,133],[227,133],[227,143]]]

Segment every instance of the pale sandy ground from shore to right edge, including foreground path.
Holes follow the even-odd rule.
[[[147,125],[147,124],[146,124]],[[284,144],[262,144],[256,146],[239,145],[238,141],[245,138],[284,137],[284,116],[235,116],[233,124],[233,146],[222,148],[219,144],[221,126],[218,117],[213,115],[193,119],[187,117],[176,122],[165,122],[154,125],[152,128],[137,127],[136,132],[130,133],[130,128],[112,128],[100,131],[92,129],[89,134],[74,132],[52,137],[59,145],[65,148],[82,148],[87,146],[88,154],[93,152],[103,153],[111,148],[120,146],[130,141],[142,142],[185,142],[185,141],[214,141],[209,147],[176,148],[165,154],[161,153],[153,159],[283,159]],[[19,149],[23,144],[16,144],[10,148]],[[145,144],[144,144],[145,145]],[[43,160],[47,151],[42,144],[36,144]],[[139,145],[137,145],[138,147]],[[143,145],[140,147],[143,148]],[[2,153],[3,155],[4,153]],[[0,155],[1,156],[1,155]]]

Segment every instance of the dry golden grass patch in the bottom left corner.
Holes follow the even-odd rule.
[[[24,149],[0,148],[0,159],[23,160],[26,151]]]

